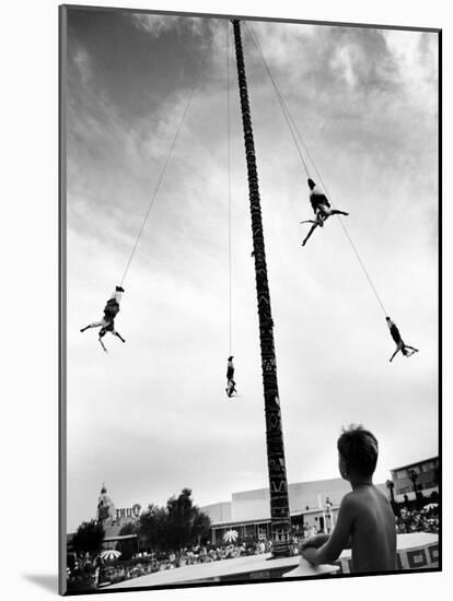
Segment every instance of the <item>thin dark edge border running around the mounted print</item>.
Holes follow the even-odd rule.
[[[67,75],[67,10],[83,10],[83,11],[106,11],[106,12],[130,12],[142,14],[155,14],[155,15],[169,15],[169,16],[193,16],[193,17],[206,17],[206,19],[219,19],[231,20],[240,19],[242,21],[252,22],[277,22],[277,23],[295,23],[305,25],[317,26],[345,26],[345,27],[358,27],[358,28],[378,28],[378,30],[391,30],[391,31],[410,31],[410,32],[427,32],[438,35],[438,58],[439,58],[439,71],[438,71],[438,92],[439,92],[439,114],[438,114],[438,149],[439,149],[439,162],[438,162],[438,333],[439,333],[439,362],[438,362],[438,445],[439,445],[439,460],[440,460],[440,473],[439,473],[439,496],[442,507],[442,30],[432,27],[415,27],[415,26],[399,26],[399,25],[379,25],[379,24],[362,24],[362,23],[349,23],[349,22],[334,22],[334,21],[314,21],[303,19],[279,19],[279,17],[258,17],[258,16],[244,16],[233,14],[216,14],[216,13],[198,13],[198,12],[177,12],[177,11],[158,11],[133,8],[107,8],[107,7],[88,7],[80,4],[63,4],[59,7],[59,593],[68,594],[66,590],[66,537],[67,537],[67,398],[66,398],[66,385],[67,385],[67,193],[66,193],[66,103],[67,93],[65,87]],[[439,568],[421,568],[417,573],[423,571],[442,571],[442,511],[440,512],[440,532],[439,532]],[[385,575],[390,573],[373,573],[373,575]],[[392,573],[394,574],[394,573]],[[414,574],[414,570],[398,571],[398,576]],[[357,578],[360,576],[368,576],[369,574],[360,575],[338,575],[335,578]],[[330,576],[316,576],[315,579],[332,578]],[[306,580],[307,577],[294,578],[294,580]],[[312,577],[310,579],[313,579]],[[71,596],[76,594],[98,594],[104,592],[131,592],[143,590],[160,590],[160,589],[179,589],[179,588],[205,588],[211,586],[230,586],[230,585],[245,585],[256,582],[282,582],[281,578],[257,578],[251,581],[245,580],[231,580],[228,582],[199,582],[199,584],[184,584],[184,585],[165,585],[155,587],[133,587],[131,588],[117,588],[117,589],[100,589],[95,591],[74,591]]]

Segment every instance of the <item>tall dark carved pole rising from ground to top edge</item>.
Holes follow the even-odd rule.
[[[259,340],[262,346],[262,369],[266,414],[267,461],[269,470],[271,538],[274,556],[279,557],[288,555],[290,547],[291,523],[288,502],[287,468],[284,463],[283,435],[281,431],[281,412],[274,345],[274,321],[270,311],[269,284],[267,281],[255,143],[252,130],[247,81],[245,78],[241,26],[237,20],[233,20],[233,30],[242,122],[244,127],[245,156],[248,172],[248,198],[251,203],[253,249],[255,257],[256,295],[258,300]]]

